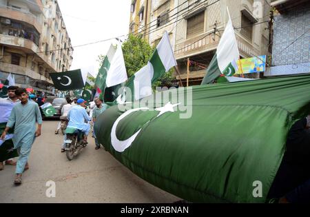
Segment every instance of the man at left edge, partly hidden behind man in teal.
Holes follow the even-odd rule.
[[[17,90],[17,86],[8,87],[8,98],[0,99],[0,134],[2,134],[3,130],[6,128],[6,123],[8,122],[8,118],[12,112],[12,109],[15,104],[19,103],[19,99],[15,94],[15,90]],[[5,141],[0,141],[0,170],[4,169],[3,162],[6,162],[6,165],[16,165],[11,158],[15,158],[19,156],[17,154],[17,149],[14,149],[14,144],[12,141],[13,129],[10,130],[9,135]]]

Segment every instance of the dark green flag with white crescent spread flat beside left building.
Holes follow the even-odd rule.
[[[84,87],[81,70],[50,73],[57,90],[78,90]]]

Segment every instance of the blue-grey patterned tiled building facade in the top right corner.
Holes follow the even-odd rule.
[[[310,72],[310,1],[272,1],[272,65],[265,76]]]

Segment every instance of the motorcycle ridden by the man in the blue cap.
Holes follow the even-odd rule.
[[[87,143],[83,140],[84,133],[81,130],[67,127],[65,134],[67,135],[65,139],[65,155],[69,161],[72,161],[74,156],[77,156],[87,146]]]

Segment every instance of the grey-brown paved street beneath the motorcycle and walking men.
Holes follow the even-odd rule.
[[[55,135],[56,121],[43,123],[43,135],[37,138],[30,154],[30,169],[23,184],[13,185],[14,167],[0,172],[0,203],[173,203],[176,196],[145,182],[118,163],[104,149],[89,146],[68,161],[61,154],[62,135]],[[45,195],[46,183],[56,183],[56,197]]]

